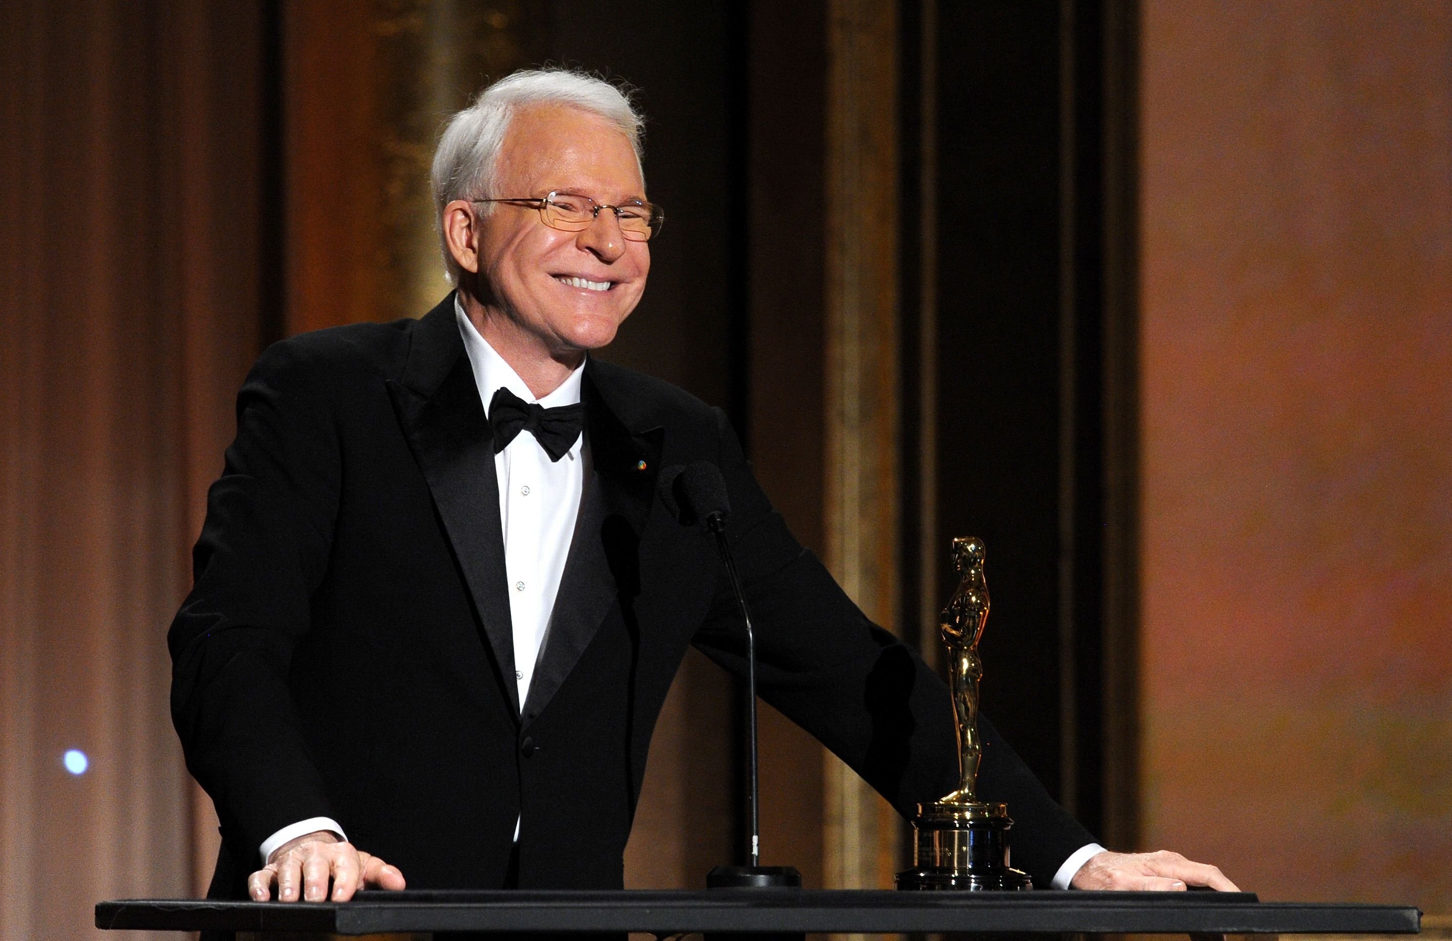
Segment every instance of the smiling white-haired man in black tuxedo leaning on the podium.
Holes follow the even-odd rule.
[[[707,534],[655,492],[693,460],[727,484],[762,697],[905,813],[957,784],[945,687],[791,537],[725,415],[588,356],[640,299],[662,222],[639,134],[597,78],[497,83],[434,160],[457,290],[418,321],[274,344],[242,386],[168,635],[222,823],[211,896],[619,887],[687,645],[745,671]],[[983,733],[980,793],[1013,809],[1037,884],[1233,887],[1104,851]]]

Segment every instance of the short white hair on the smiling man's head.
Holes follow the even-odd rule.
[[[494,193],[491,187],[510,121],[520,109],[534,105],[565,105],[604,118],[630,139],[636,163],[640,163],[645,118],[635,109],[627,91],[598,76],[571,68],[526,68],[499,78],[481,91],[469,107],[449,119],[434,151],[434,218],[444,269],[453,285],[459,283],[460,272],[443,231],[444,206],[456,199],[524,196]],[[640,176],[645,179],[643,168]],[[484,213],[491,209],[492,205],[482,206]]]

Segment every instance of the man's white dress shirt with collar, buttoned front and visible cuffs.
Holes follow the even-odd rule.
[[[479,399],[488,415],[495,391],[504,388],[526,402],[544,408],[574,405],[579,401],[584,363],[542,399],[536,399],[518,373],[494,351],[479,334],[454,295],[454,317],[463,349],[473,367]],[[514,681],[520,693],[520,709],[529,698],[534,665],[549,633],[550,611],[559,594],[565,561],[579,518],[579,501],[588,473],[590,449],[585,436],[571,444],[559,460],[550,460],[544,449],[529,431],[520,431],[513,441],[494,456],[494,476],[499,485],[499,523],[504,529],[504,568],[510,579],[510,620],[514,629]],[[331,831],[347,839],[343,828],[331,818],[311,818],[285,826],[261,845],[263,864],[273,850],[305,834]],[[514,823],[514,839],[520,838],[520,822]],[[1096,852],[1099,844],[1089,844],[1064,860],[1054,874],[1053,887],[1067,889],[1079,868]]]

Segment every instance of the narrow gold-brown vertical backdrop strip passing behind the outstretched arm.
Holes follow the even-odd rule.
[[[826,25],[825,562],[897,627],[897,4],[832,0]],[[897,813],[823,761],[823,887],[890,889]]]

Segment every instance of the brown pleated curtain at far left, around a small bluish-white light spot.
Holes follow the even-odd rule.
[[[270,317],[266,17],[0,4],[4,938],[94,937],[97,899],[211,863],[164,635]]]

